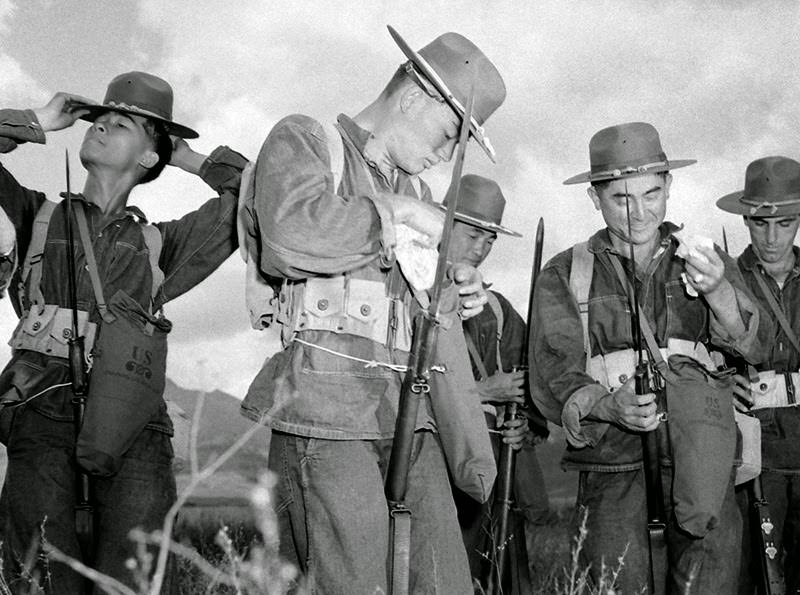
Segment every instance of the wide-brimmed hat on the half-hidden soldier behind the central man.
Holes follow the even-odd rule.
[[[447,210],[447,197],[439,208]],[[505,208],[506,198],[497,182],[475,174],[461,177],[455,214],[458,221],[495,233],[522,237],[522,234],[500,225]]]

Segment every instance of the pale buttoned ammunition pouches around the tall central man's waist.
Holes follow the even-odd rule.
[[[386,295],[383,281],[349,275],[284,281],[277,321],[284,344],[294,333],[322,330],[357,335],[401,351],[411,349],[411,320],[400,298]]]

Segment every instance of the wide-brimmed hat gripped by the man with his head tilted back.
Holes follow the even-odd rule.
[[[82,119],[94,120],[109,111],[134,114],[155,120],[169,134],[181,138],[197,138],[197,132],[172,121],[172,87],[167,81],[146,72],[126,72],[108,84],[102,105],[79,105],[76,109],[87,110]]]

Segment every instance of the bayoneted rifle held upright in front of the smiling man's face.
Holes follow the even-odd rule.
[[[644,359],[646,347],[642,341],[642,327],[640,325],[639,292],[636,289],[636,260],[633,252],[633,239],[631,237],[631,209],[628,197],[627,183],[625,187],[625,211],[628,218],[628,246],[631,259],[631,293],[633,304],[631,307],[631,326],[633,327],[633,344],[637,352],[637,362],[634,372],[637,395],[644,395],[651,391],[650,361]],[[663,416],[663,413],[659,413]],[[644,482],[647,497],[647,542],[650,553],[650,590],[653,595],[666,593],[667,577],[667,541],[666,541],[666,514],[664,512],[664,488],[661,484],[661,446],[658,441],[657,430],[642,434],[642,453],[644,459]]]

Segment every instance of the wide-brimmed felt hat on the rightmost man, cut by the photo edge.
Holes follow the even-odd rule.
[[[762,157],[747,166],[744,190],[717,201],[723,211],[748,217],[800,214],[800,163],[788,157]]]

